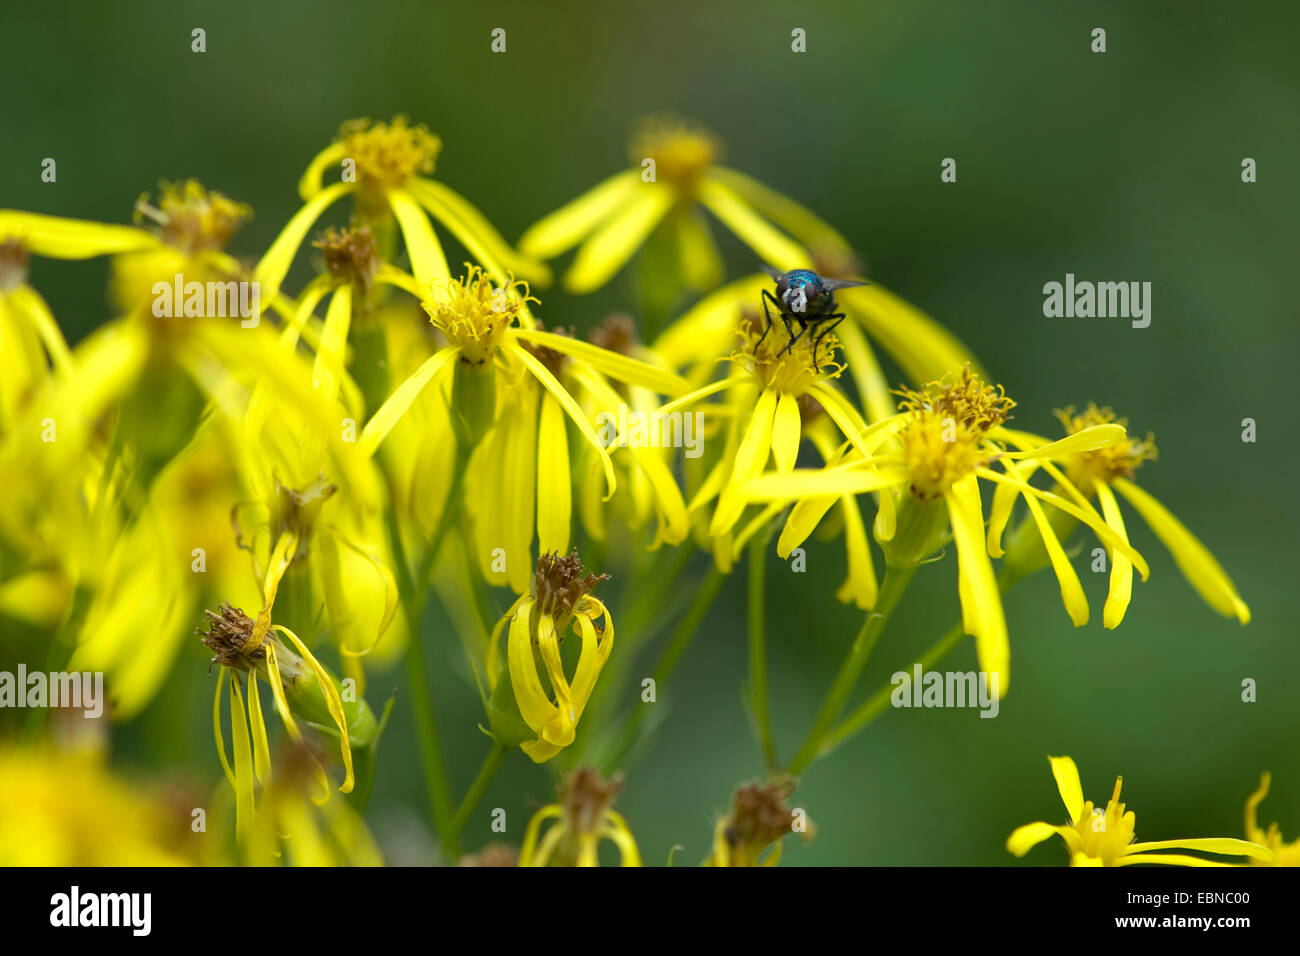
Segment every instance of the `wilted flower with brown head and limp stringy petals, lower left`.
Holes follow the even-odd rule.
[[[338,680],[287,627],[273,624],[270,632],[257,635],[252,618],[230,605],[204,614],[208,630],[198,635],[213,652],[212,663],[221,666],[212,702],[212,727],[221,766],[235,792],[235,827],[243,843],[255,817],[256,782],[270,782],[270,743],[257,691],[259,679],[270,687],[276,710],[295,743],[303,741],[295,711],[309,724],[338,736],[343,762],[343,782],[338,790],[342,793],[350,793],[354,786],[352,748],[367,747],[374,737],[374,714],[361,697],[344,701]],[[239,672],[248,675],[247,708]],[[221,731],[225,683],[229,683],[233,766],[226,757]],[[315,762],[315,757],[312,760],[321,787],[320,797],[313,799],[324,803],[329,797],[329,782],[320,763]]]

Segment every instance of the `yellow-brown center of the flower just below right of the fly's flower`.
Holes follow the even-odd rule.
[[[896,389],[898,408],[910,415],[900,437],[913,494],[939,498],[988,458],[983,442],[1015,406],[1002,392],[976,377],[967,365],[961,378]]]

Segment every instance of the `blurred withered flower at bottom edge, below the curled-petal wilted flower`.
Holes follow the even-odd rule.
[[[601,840],[619,849],[620,866],[640,866],[637,842],[623,816],[612,809],[623,790],[618,778],[606,780],[590,767],[569,774],[559,787],[559,800],[540,809],[528,821],[520,866],[598,866]],[[554,819],[546,834],[542,825]]]

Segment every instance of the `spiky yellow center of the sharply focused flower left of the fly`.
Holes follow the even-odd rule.
[[[474,365],[491,360],[519,310],[525,302],[537,302],[526,282],[510,278],[504,286],[493,285],[490,276],[469,263],[464,278],[437,280],[429,291],[421,303],[429,321],[460,349],[463,362]]]

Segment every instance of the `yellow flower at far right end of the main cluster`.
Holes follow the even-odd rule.
[[[1118,421],[1127,425],[1127,419],[1117,419],[1115,412],[1095,405],[1082,414],[1072,407],[1057,412],[1067,434],[1102,423]],[[1106,523],[1118,537],[1127,538],[1123,514],[1119,510],[1114,492],[1141,515],[1147,525],[1156,533],[1161,544],[1174,555],[1174,562],[1187,581],[1204,601],[1226,618],[1235,617],[1243,624],[1251,623],[1251,609],[1236,591],[1232,579],[1192,532],[1179,522],[1156,498],[1144,492],[1134,481],[1138,468],[1144,462],[1156,458],[1154,437],[1148,433],[1144,440],[1130,437],[1126,442],[1109,449],[1095,449],[1069,455],[1062,460],[1065,473],[1086,496],[1101,503]],[[1056,475],[1053,475],[1056,477]],[[1123,555],[1115,555],[1110,564],[1110,593],[1106,598],[1106,627],[1117,627],[1128,610],[1132,596],[1132,566]]]

